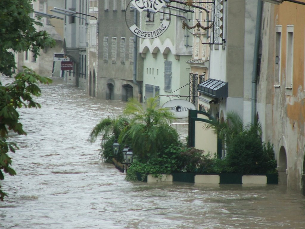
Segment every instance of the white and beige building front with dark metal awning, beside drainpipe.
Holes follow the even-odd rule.
[[[213,23],[220,26],[214,27],[209,81],[199,84],[199,103],[201,100],[205,107],[210,104],[210,114],[221,120],[228,111],[235,111],[244,123],[249,123],[257,1],[215,0],[214,4]]]

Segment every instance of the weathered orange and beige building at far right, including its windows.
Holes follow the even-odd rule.
[[[305,1],[303,0],[305,3]],[[301,191],[305,151],[305,5],[264,2],[257,111],[274,144],[279,183]]]

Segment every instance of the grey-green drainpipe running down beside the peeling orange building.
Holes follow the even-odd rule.
[[[257,89],[257,63],[258,63],[258,51],[260,45],[260,25],[262,18],[263,2],[258,0],[257,2],[257,16],[255,27],[255,43],[254,43],[254,58],[253,58],[253,75],[252,75],[252,98],[251,98],[251,123],[254,124],[256,116],[256,89]]]

